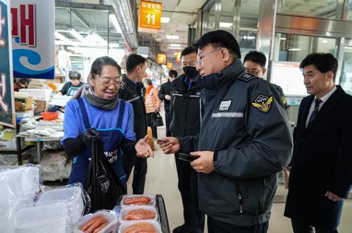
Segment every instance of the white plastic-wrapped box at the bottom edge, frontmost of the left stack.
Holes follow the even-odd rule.
[[[55,232],[70,229],[70,214],[61,203],[22,208],[15,214],[16,233]]]

